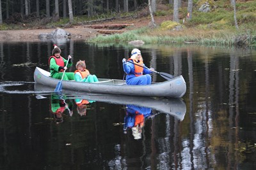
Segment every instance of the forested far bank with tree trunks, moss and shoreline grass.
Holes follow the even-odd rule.
[[[0,10],[1,31],[134,22],[89,41],[256,45],[253,0],[0,0]]]

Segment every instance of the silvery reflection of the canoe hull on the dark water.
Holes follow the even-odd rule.
[[[36,94],[47,96],[54,92],[54,88],[45,87],[35,83]],[[63,90],[62,94],[67,96],[67,99],[84,99],[88,101],[98,101],[113,104],[132,104],[143,108],[150,108],[159,113],[166,113],[172,115],[178,120],[182,121],[186,114],[186,104],[180,98],[161,98],[161,97],[140,97],[140,96],[115,96],[109,94],[89,94],[85,92],[74,92]]]

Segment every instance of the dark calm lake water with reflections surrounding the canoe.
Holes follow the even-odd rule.
[[[81,59],[99,78],[116,79],[133,48],[59,46],[72,55],[68,71]],[[182,99],[161,99],[56,96],[33,80],[36,66],[49,70],[52,47],[0,43],[0,169],[256,169],[255,48],[142,46],[146,66],[186,80]],[[141,129],[126,127],[134,117]]]

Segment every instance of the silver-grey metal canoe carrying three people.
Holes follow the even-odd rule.
[[[34,72],[35,83],[56,87],[60,80],[51,78],[49,71],[36,67]],[[99,78],[97,83],[85,83],[78,81],[62,81],[62,88],[67,90],[115,94],[128,96],[149,97],[182,97],[186,93],[186,82],[183,76],[177,76],[172,80],[152,83],[151,85],[126,85],[125,80]]]

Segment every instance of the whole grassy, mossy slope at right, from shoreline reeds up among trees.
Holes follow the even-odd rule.
[[[195,5],[191,20],[173,24],[163,22],[154,29],[143,27],[138,30],[97,36],[90,42],[129,42],[141,39],[145,43],[199,43],[207,45],[248,45],[256,46],[256,1],[237,1],[236,18],[239,29],[234,25],[234,9],[230,1],[212,1],[212,11],[203,13]],[[156,15],[172,15],[169,10],[159,10]],[[186,16],[187,7],[180,8],[180,16]],[[180,17],[182,18],[182,17]],[[186,17],[184,17],[186,18]],[[148,22],[150,18],[148,17]],[[174,25],[172,27],[172,25]],[[179,25],[179,29],[175,29]]]

